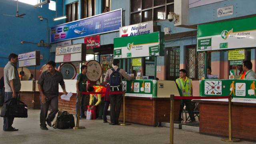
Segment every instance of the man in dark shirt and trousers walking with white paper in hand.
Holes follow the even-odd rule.
[[[41,74],[37,82],[41,96],[40,128],[42,130],[48,130],[45,122],[48,126],[52,126],[51,122],[58,112],[59,84],[62,87],[63,94],[67,94],[62,73],[55,70],[56,63],[49,61],[46,67],[47,70]],[[49,105],[52,109],[47,117]]]

